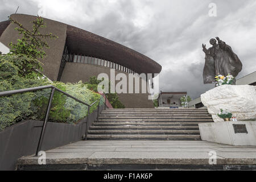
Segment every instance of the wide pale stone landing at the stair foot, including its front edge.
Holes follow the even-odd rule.
[[[216,151],[217,164],[209,164]],[[256,147],[204,141],[80,141],[18,160],[18,170],[256,170]]]

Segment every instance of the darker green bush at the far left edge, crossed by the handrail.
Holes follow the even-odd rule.
[[[26,56],[0,56],[0,92],[48,85],[46,79],[20,77],[20,68],[16,65],[26,59]],[[35,119],[36,108],[32,100],[47,95],[49,90],[15,94],[11,97],[0,97],[0,130],[11,126],[21,119]]]

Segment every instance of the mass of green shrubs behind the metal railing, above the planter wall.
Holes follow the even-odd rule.
[[[42,77],[28,77],[27,75],[34,75],[32,72],[32,74],[27,73],[27,75],[21,74],[20,68],[22,67],[17,65],[26,59],[27,56],[22,55],[0,56],[0,92],[53,85],[88,104],[92,104],[101,97],[100,94],[87,89],[87,85],[82,84],[82,82],[77,84],[51,83]],[[14,94],[10,97],[0,97],[0,131],[22,119],[44,119],[50,93],[51,89],[45,89],[37,92]],[[97,109],[97,104],[92,107],[90,113]],[[104,100],[101,100],[100,104],[104,104]],[[87,111],[87,106],[56,91],[53,96],[49,121],[76,123],[86,117]]]

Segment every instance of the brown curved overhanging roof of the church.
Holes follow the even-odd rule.
[[[54,22],[54,20],[51,21]],[[8,25],[9,21],[0,22],[0,36]],[[80,28],[66,25],[67,45],[73,53],[112,61],[137,73],[160,73],[162,70],[160,64],[133,49]]]

